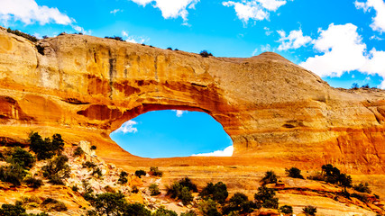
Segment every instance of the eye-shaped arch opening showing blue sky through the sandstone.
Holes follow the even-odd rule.
[[[233,140],[206,112],[162,110],[125,121],[110,134],[120,147],[139,157],[233,155]]]

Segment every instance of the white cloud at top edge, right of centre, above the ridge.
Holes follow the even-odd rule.
[[[269,19],[270,11],[275,12],[286,3],[286,0],[242,0],[241,2],[227,1],[222,4],[227,7],[234,6],[236,16],[247,24],[249,20]]]

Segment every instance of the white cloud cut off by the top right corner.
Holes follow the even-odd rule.
[[[383,0],[367,0],[366,2],[354,2],[357,9],[363,9],[366,13],[373,8],[376,16],[372,18],[371,29],[374,31],[385,31],[385,2]]]

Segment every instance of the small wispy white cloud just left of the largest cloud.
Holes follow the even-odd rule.
[[[304,36],[302,30],[290,31],[288,36],[286,36],[285,31],[277,32],[280,34],[280,40],[278,40],[280,42],[279,50],[298,49],[311,42],[311,38]]]

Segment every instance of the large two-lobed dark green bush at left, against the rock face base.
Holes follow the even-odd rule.
[[[30,149],[36,154],[38,160],[50,159],[54,155],[60,155],[64,150],[64,140],[60,134],[53,134],[52,139],[42,139],[37,132],[30,133]]]

